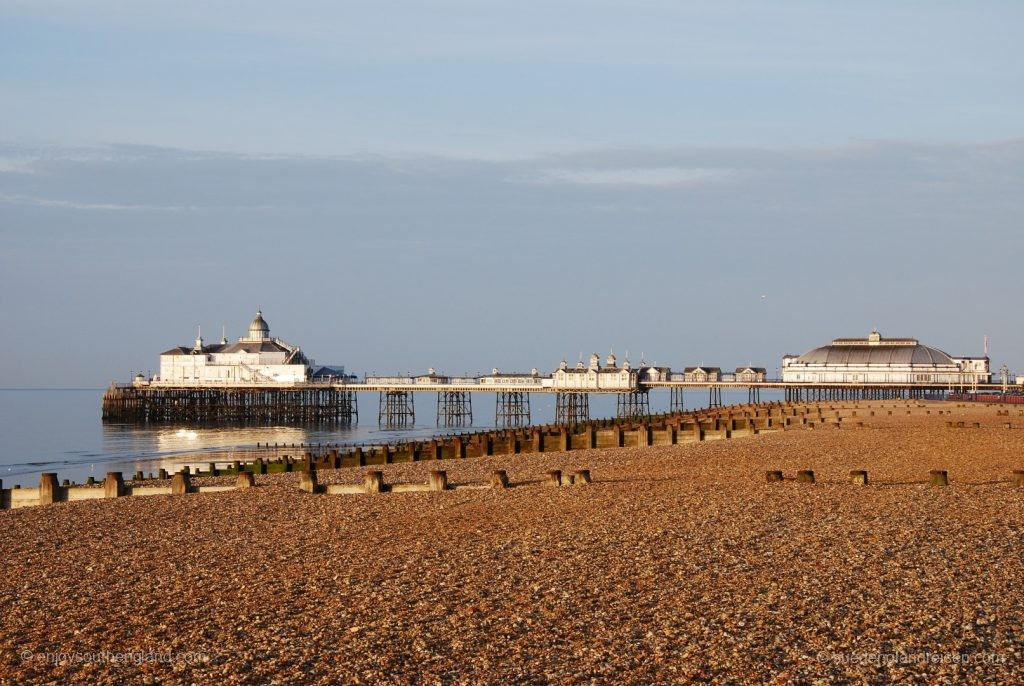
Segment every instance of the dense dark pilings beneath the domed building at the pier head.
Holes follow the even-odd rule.
[[[103,420],[114,422],[353,422],[355,393],[332,386],[159,388],[111,384]]]

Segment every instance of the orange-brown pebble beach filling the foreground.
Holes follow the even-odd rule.
[[[2,511],[0,683],[1024,681],[1024,416],[859,408],[862,428],[373,468],[504,469],[504,490],[289,473]]]

